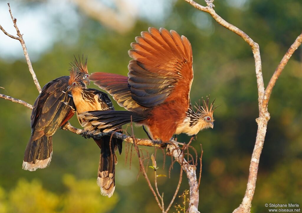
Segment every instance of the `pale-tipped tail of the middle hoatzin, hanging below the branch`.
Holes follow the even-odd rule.
[[[104,136],[99,140],[95,140],[101,149],[100,165],[98,167],[98,186],[101,188],[103,196],[111,197],[115,189],[115,164],[117,157],[115,151],[118,149],[121,153],[121,141],[113,138],[110,141],[110,136]]]

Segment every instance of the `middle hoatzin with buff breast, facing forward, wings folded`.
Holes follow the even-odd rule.
[[[106,113],[110,112],[108,110],[114,110],[108,95],[96,89],[87,89],[76,69],[77,67],[74,67],[71,70],[69,78],[69,92],[72,94],[76,113],[92,110],[106,110],[104,111]],[[84,121],[79,119],[79,122],[82,124]],[[116,126],[112,130],[121,131],[121,128]],[[122,140],[111,138],[111,136],[104,136],[101,139],[94,140],[101,149],[97,183],[101,188],[101,194],[111,197],[115,189],[115,164],[117,164],[115,151],[118,149],[119,154],[121,154]]]

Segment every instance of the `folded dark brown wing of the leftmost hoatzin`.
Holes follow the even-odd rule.
[[[70,113],[71,107],[75,107],[72,98],[67,93],[68,80],[69,76],[63,76],[50,81],[43,87],[31,114],[32,134],[40,132],[39,135],[51,136],[67,116],[73,115]],[[35,135],[37,133],[34,137]]]

